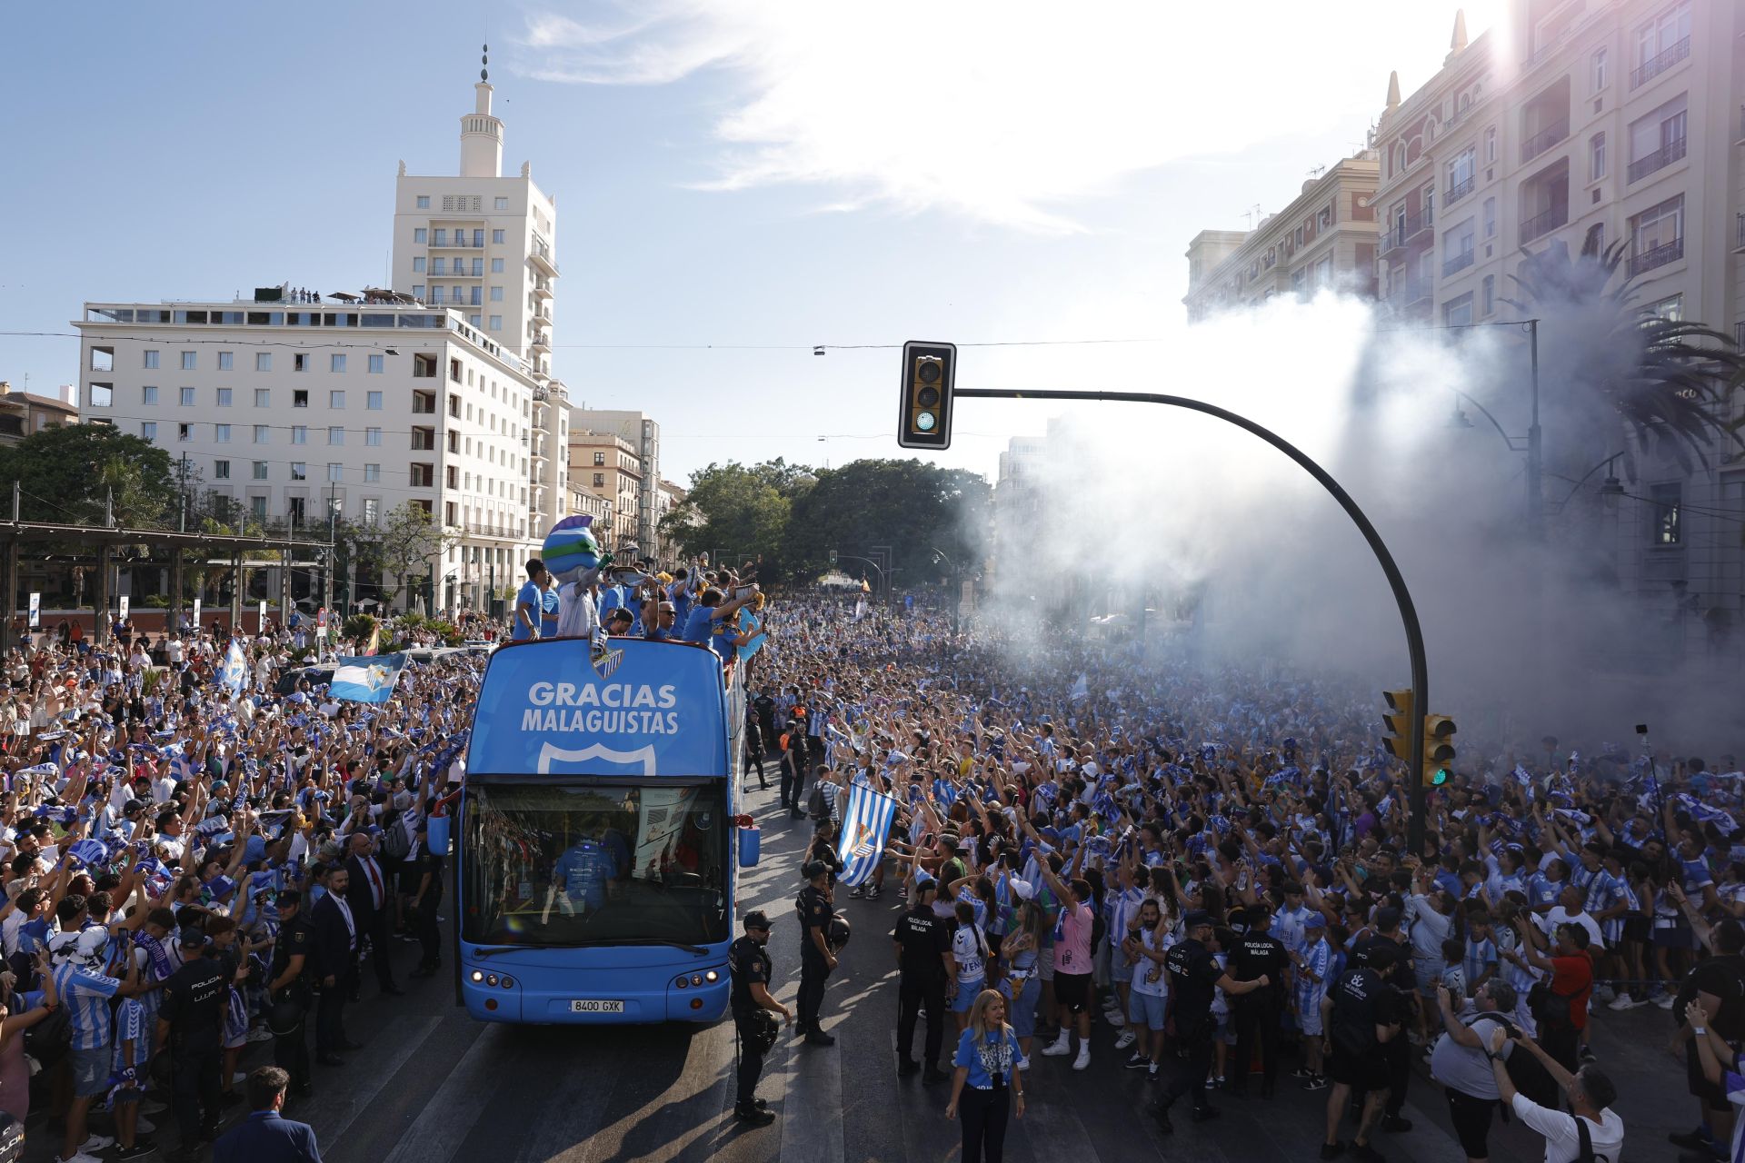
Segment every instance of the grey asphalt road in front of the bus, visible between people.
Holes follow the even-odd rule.
[[[789,823],[775,792],[752,792],[764,828],[763,863],[745,886],[745,907],[766,908],[780,987],[792,1004],[799,933],[804,823]],[[895,893],[879,901],[845,900],[853,940],[825,997],[832,1048],[784,1043],[771,1053],[759,1095],[778,1112],[768,1128],[742,1130],[731,1118],[733,1025],[707,1029],[536,1029],[480,1025],[454,1004],[448,978],[414,982],[415,945],[394,949],[407,997],[379,997],[365,971],[363,1003],[351,1008],[352,1037],[365,1048],[344,1067],[316,1071],[316,1095],[286,1114],[314,1125],[330,1163],[946,1163],[958,1158],[958,1128],[944,1118],[949,1085],[923,1086],[895,1074],[895,966],[888,933],[900,912]],[[452,917],[450,917],[452,921]],[[1595,1050],[1619,1083],[1618,1111],[1626,1160],[1675,1160],[1668,1130],[1687,1128],[1693,1102],[1684,1069],[1661,1044],[1670,1015],[1642,1008],[1598,1017]],[[1012,1163],[1127,1163],[1190,1158],[1206,1163],[1312,1160],[1321,1140],[1324,1092],[1281,1079],[1279,1095],[1223,1098],[1223,1118],[1202,1126],[1178,1119],[1173,1137],[1145,1114],[1150,1086],[1122,1069],[1113,1032],[1098,1025],[1089,1071],[1070,1058],[1035,1057],[1030,1111],[1007,1140]],[[270,1058],[250,1046],[244,1065]],[[1291,1069],[1286,1064],[1286,1071]],[[1167,1069],[1167,1064],[1166,1064]],[[1420,1069],[1406,1114],[1415,1128],[1379,1135],[1391,1160],[1461,1163],[1441,1090]],[[234,1121],[236,1116],[232,1116]],[[168,1112],[159,1142],[174,1142]],[[26,1160],[52,1160],[56,1135],[38,1112]],[[1518,1123],[1492,1133],[1492,1158],[1537,1160],[1543,1146]],[[1618,1161],[1612,1161],[1618,1163]]]

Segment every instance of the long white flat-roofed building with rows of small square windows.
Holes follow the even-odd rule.
[[[459,312],[405,303],[86,303],[79,418],[185,460],[257,521],[326,532],[410,500],[457,535],[438,602],[478,605],[530,521],[536,384]],[[422,563],[428,567],[429,563]],[[422,568],[414,568],[422,572]]]

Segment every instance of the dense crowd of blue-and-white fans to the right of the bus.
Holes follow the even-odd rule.
[[[1166,1132],[1178,1102],[1202,1121],[1216,1090],[1290,1085],[1328,1093],[1321,1158],[1382,1158],[1382,1135],[1410,1154],[1422,1058],[1469,1160],[1499,1104],[1548,1160],[1584,1158],[1583,1139],[1618,1160],[1590,1022],[1637,1006],[1672,1011],[1687,1058],[1700,1121],[1673,1142],[1735,1158],[1731,755],[1462,738],[1413,849],[1375,692],[1047,631],[953,636],[948,617],[832,600],[777,610],[749,677],[750,771],[775,762],[782,802],[815,821],[808,858],[838,870],[846,790],[899,802],[885,863],[845,896],[906,898],[900,1062],[955,1078],[967,1160],[998,1158],[989,1079],[1007,1092],[1035,1053],[1084,1069],[1094,1051],[1157,1083]],[[916,915],[939,924],[918,938]],[[953,1025],[944,1053],[935,1022]]]

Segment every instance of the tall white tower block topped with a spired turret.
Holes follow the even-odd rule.
[[[489,70],[461,117],[457,174],[394,180],[393,288],[429,307],[457,310],[527,368],[534,382],[529,507],[543,535],[564,516],[569,398],[551,377],[557,302],[557,201],[522,162],[503,176],[503,120],[492,113]]]

